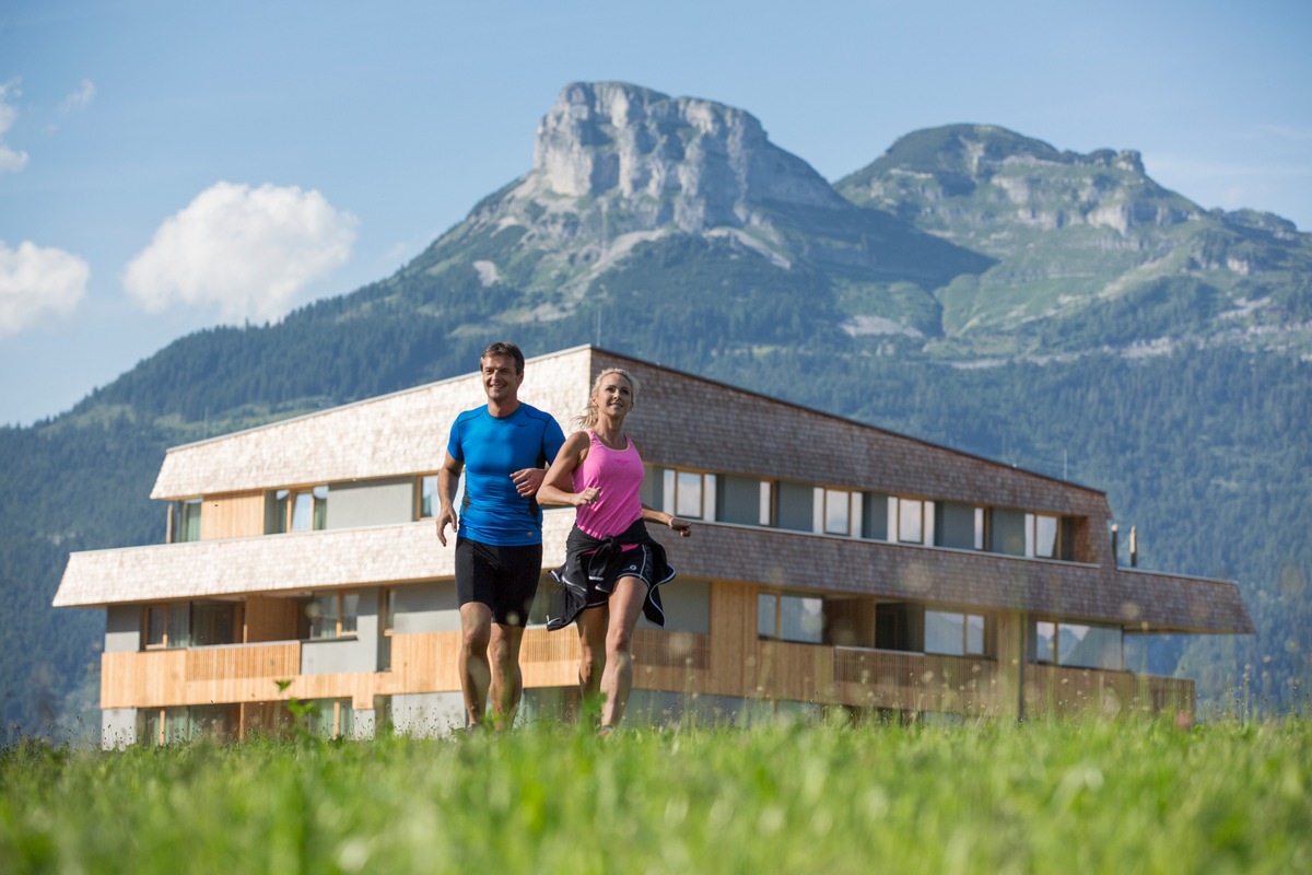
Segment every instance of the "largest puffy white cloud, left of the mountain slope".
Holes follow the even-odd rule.
[[[216,182],[164,220],[123,287],[150,312],[181,303],[218,307],[224,321],[281,319],[346,262],[357,224],[319,192]]]

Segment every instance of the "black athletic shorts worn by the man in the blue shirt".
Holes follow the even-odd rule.
[[[455,539],[455,598],[492,609],[492,622],[527,626],[533,597],[542,577],[542,544],[497,547]]]

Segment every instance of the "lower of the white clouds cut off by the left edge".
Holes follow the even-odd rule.
[[[0,337],[16,335],[45,312],[67,316],[87,295],[91,268],[62,249],[0,240]]]

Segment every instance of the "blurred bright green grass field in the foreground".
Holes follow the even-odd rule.
[[[1299,719],[0,754],[0,872],[1308,872]]]

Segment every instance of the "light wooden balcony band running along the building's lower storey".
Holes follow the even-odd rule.
[[[459,690],[459,632],[395,635],[391,670],[300,674],[300,641],[105,653],[101,707],[277,702]],[[795,701],[966,716],[1008,714],[1004,678],[992,659],[798,644],[760,639],[740,660],[712,660],[707,635],[638,630],[635,689]],[[526,687],[573,687],[579,639],[572,631],[526,630],[520,652]],[[719,674],[711,666],[722,666]],[[279,689],[278,681],[290,681]],[[1014,689],[1014,686],[1013,686]],[[1194,711],[1194,682],[1128,672],[1025,666],[1030,716]],[[1014,714],[1014,707],[1010,710]]]

